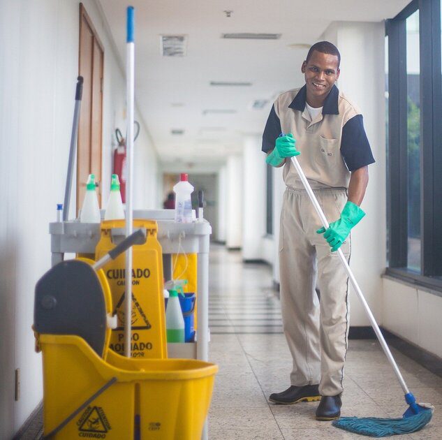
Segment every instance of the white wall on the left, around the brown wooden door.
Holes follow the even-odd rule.
[[[84,0],[84,6],[105,48],[105,200],[112,135],[115,124],[123,125],[125,82],[96,3]],[[34,353],[31,331],[34,286],[50,267],[48,223],[64,198],[78,75],[78,22],[78,1],[0,2],[1,439],[10,439],[42,398],[41,355]],[[135,145],[135,186],[144,182],[149,187],[135,193],[135,205],[140,205],[149,203],[151,191],[156,191],[156,155],[143,127]],[[21,371],[18,402],[16,368]]]

